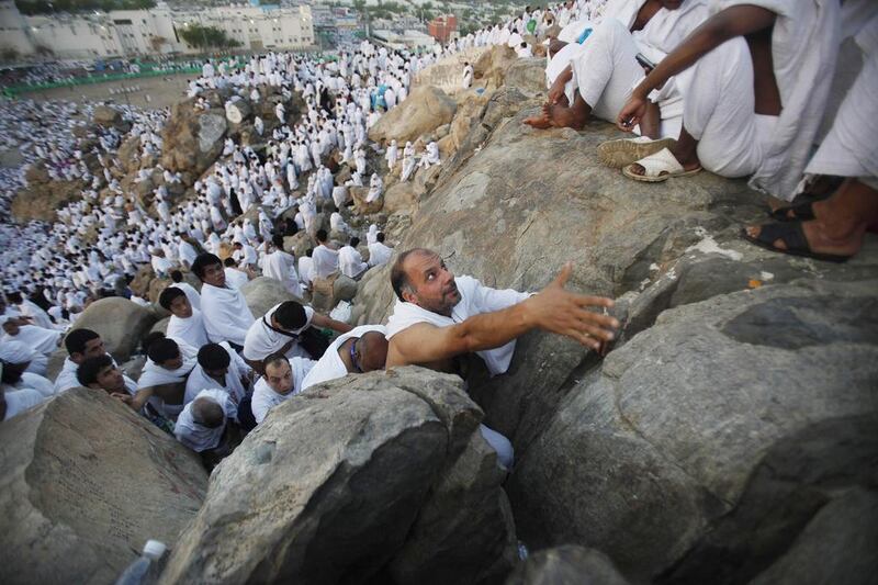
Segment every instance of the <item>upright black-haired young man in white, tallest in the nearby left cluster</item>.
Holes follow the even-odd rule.
[[[201,308],[207,338],[214,344],[228,341],[236,350],[241,349],[247,329],[256,320],[244,294],[226,284],[223,262],[213,254],[199,255],[192,262],[192,272],[203,283]]]

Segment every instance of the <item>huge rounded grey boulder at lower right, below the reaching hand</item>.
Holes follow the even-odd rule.
[[[742,556],[774,560],[835,491],[868,487],[878,472],[876,286],[763,286],[662,313],[574,382],[519,460],[510,493],[522,531],[538,545],[598,547],[637,580],[684,555],[686,575],[699,563],[716,573]],[[806,437],[819,449],[808,452]],[[766,458],[786,463],[748,487]],[[822,473],[832,484],[813,479]],[[779,477],[818,500],[793,505]],[[764,524],[781,533],[756,539]],[[820,530],[855,538],[838,524]],[[838,554],[856,564],[859,552]]]

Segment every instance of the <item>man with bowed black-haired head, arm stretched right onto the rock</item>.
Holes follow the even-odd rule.
[[[262,371],[261,361],[272,353],[318,360],[328,344],[316,327],[340,334],[351,329],[347,323],[320,315],[297,301],[277,304],[250,326],[244,341],[244,359],[258,372]]]

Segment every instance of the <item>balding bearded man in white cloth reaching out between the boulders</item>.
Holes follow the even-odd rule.
[[[588,307],[611,307],[603,296],[564,290],[572,265],[537,294],[483,286],[472,277],[454,279],[432,250],[414,248],[401,254],[391,270],[396,304],[387,320],[387,368],[418,364],[459,373],[455,358],[477,353],[491,375],[506,372],[515,340],[531,329],[571,337],[599,351],[614,338],[615,318]],[[503,435],[481,427],[505,468],[514,462],[513,446]]]

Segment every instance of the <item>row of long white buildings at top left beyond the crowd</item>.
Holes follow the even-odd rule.
[[[305,5],[171,11],[159,2],[149,10],[24,16],[13,0],[0,0],[0,52],[11,48],[27,56],[48,49],[58,59],[198,53],[180,35],[195,24],[224,31],[245,50],[297,49],[314,44],[314,23]]]

